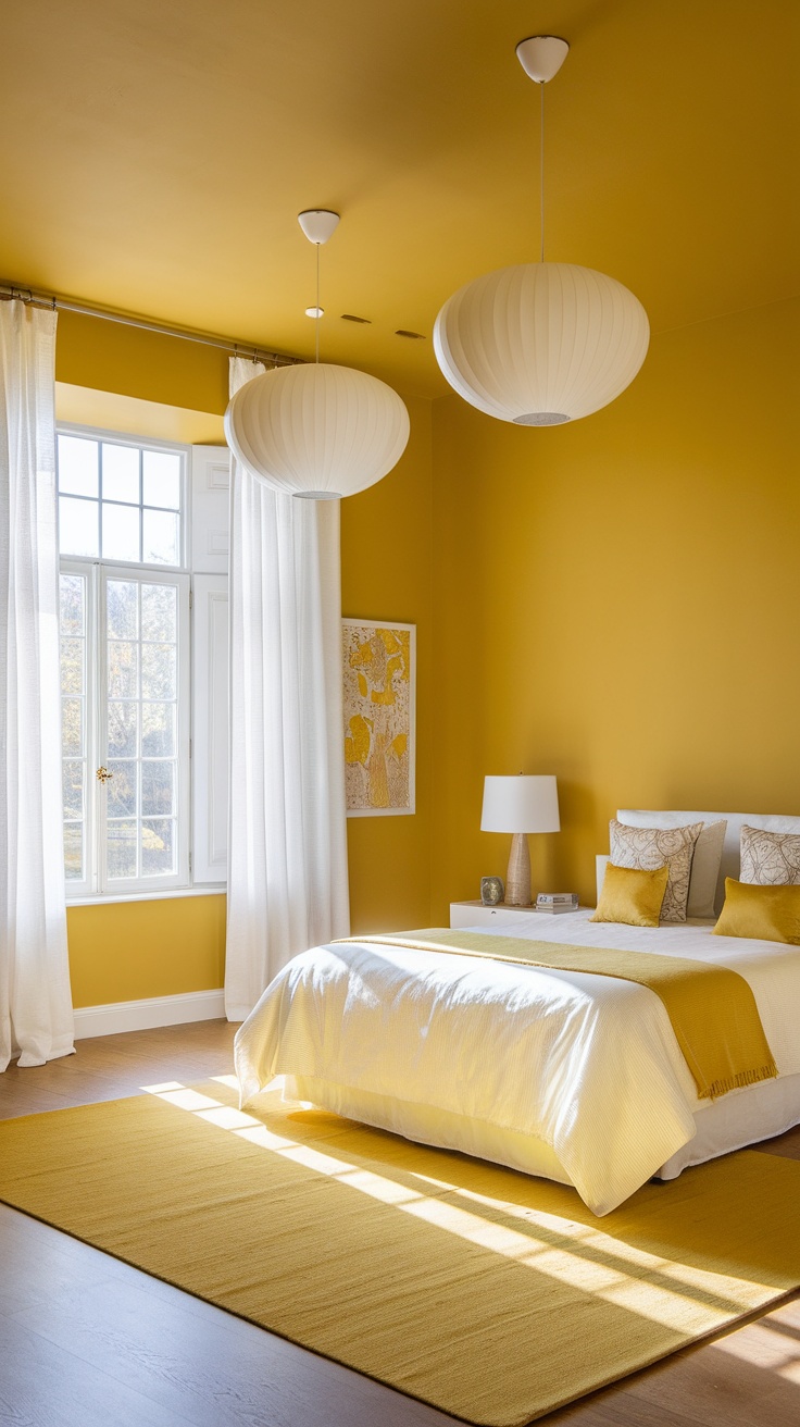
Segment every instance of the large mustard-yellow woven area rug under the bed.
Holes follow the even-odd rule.
[[[471,1423],[522,1424],[800,1283],[800,1163],[578,1194],[228,1077],[0,1124],[0,1199]]]

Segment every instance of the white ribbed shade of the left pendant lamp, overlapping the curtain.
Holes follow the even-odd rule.
[[[275,367],[231,398],[237,461],[285,495],[334,499],[381,481],[405,451],[408,411],[376,377],[328,362]]]

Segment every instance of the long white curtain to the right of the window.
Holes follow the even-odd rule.
[[[231,394],[264,368],[231,358]],[[225,1012],[349,930],[339,502],[231,475],[231,792]]]

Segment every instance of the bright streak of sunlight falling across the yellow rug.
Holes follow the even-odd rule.
[[[214,1076],[212,1079],[227,1089],[237,1089],[235,1076]],[[302,1164],[314,1173],[337,1179],[339,1184],[347,1184],[348,1189],[382,1204],[391,1204],[431,1227],[455,1234],[506,1259],[513,1259],[519,1264],[528,1264],[539,1273],[666,1327],[686,1330],[687,1304],[690,1307],[697,1304],[696,1311],[699,1316],[702,1314],[706,1331],[709,1310],[716,1314],[720,1324],[730,1317],[732,1309],[747,1310],[747,1300],[737,1291],[740,1284],[736,1279],[693,1269],[689,1264],[675,1264],[669,1259],[645,1253],[593,1226],[512,1204],[503,1199],[478,1194],[446,1180],[416,1174],[414,1170],[404,1170],[406,1179],[418,1180],[421,1184],[419,1189],[412,1189],[395,1179],[359,1169],[334,1154],[275,1134],[255,1116],[237,1110],[234,1106],[225,1106],[177,1080],[143,1086],[141,1089],[175,1109],[188,1110],[215,1129],[228,1130],[250,1144],[280,1154],[295,1164]],[[424,1186],[435,1189],[438,1193],[425,1193]],[[455,1199],[459,1203],[453,1203]],[[473,1212],[468,1207],[469,1204],[475,1210],[482,1207],[486,1212],[502,1214],[506,1220],[519,1219],[525,1222],[526,1229],[522,1232],[508,1223],[496,1223],[485,1214]],[[542,1237],[538,1237],[536,1230]],[[569,1247],[565,1246],[565,1240],[569,1241]],[[636,1277],[625,1271],[625,1264],[637,1270]],[[783,1361],[786,1363],[786,1359]],[[793,1361],[779,1367],[777,1371],[783,1376],[793,1376],[797,1371],[797,1364]]]

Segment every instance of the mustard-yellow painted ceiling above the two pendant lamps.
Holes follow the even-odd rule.
[[[797,0],[6,0],[0,277],[309,357],[331,207],[322,360],[436,395],[441,304],[538,257],[536,33],[549,258],[655,331],[799,291]]]

